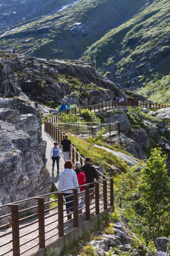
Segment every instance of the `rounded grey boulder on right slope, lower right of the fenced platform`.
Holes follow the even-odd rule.
[[[150,146],[147,133],[143,128],[132,130],[129,137],[136,141],[142,148]]]

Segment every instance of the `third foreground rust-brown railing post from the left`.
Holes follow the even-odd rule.
[[[56,192],[58,197],[58,236],[64,236],[63,193]]]

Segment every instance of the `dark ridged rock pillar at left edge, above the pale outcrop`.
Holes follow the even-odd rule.
[[[21,92],[20,85],[15,82],[13,63],[0,58],[0,94],[18,95]]]

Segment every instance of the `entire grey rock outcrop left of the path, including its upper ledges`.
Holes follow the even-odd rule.
[[[0,205],[50,192],[41,132],[42,119],[35,108],[0,97]]]

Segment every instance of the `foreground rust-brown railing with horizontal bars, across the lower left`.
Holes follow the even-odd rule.
[[[94,184],[95,189],[95,199],[92,205],[90,205],[90,194],[93,189],[89,188],[90,184]],[[63,200],[66,197],[64,197],[63,192],[67,189],[1,205],[0,211],[4,212],[5,209],[8,209],[9,213],[0,216],[0,223],[6,223],[0,225],[0,256],[30,255],[29,251],[32,249],[35,253],[38,248],[45,248],[48,243],[51,243],[52,238],[53,241],[56,241],[58,236],[64,236],[68,228],[78,227],[82,220],[90,220],[91,215],[100,214],[107,209],[108,205],[113,206],[112,178],[105,178],[104,175],[103,179],[83,187],[85,189],[85,196],[83,197],[81,192],[77,191],[78,187],[71,188],[72,200],[70,203],[73,203],[71,207],[73,208],[73,218],[71,220],[67,220],[68,214],[65,214],[66,209],[64,209],[66,203]],[[50,195],[55,195],[56,199],[50,201]],[[85,199],[85,206],[81,209],[79,209],[79,197]],[[22,207],[23,203],[30,201],[31,207]],[[54,202],[57,203],[56,206],[51,206]],[[80,210],[82,213],[79,212]]]

